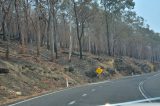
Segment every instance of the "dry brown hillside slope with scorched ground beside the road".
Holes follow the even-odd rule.
[[[18,52],[6,60],[1,53],[0,68],[9,72],[0,73],[0,104],[65,88],[67,80],[71,87],[155,71],[152,63],[129,57],[100,57],[86,53],[82,60],[75,54],[69,62],[67,55],[61,52],[58,59],[50,62],[41,56]],[[98,66],[104,67],[100,76],[95,72]]]

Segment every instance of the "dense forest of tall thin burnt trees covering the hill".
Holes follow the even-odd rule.
[[[0,0],[0,39],[21,53],[41,48],[160,61],[160,36],[133,10],[133,0]]]

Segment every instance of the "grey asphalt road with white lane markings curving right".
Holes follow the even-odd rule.
[[[154,97],[160,97],[159,72],[68,88],[9,106],[103,106],[138,100],[151,102],[149,98]]]

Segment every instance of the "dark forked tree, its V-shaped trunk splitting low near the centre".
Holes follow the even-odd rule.
[[[84,28],[88,19],[92,16],[91,0],[72,0],[74,4],[74,17],[76,24],[76,32],[79,44],[80,59],[82,59],[82,38],[84,37]]]

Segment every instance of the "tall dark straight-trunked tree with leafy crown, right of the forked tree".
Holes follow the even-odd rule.
[[[111,25],[110,21],[114,18],[113,15],[119,15],[125,9],[133,9],[135,3],[133,0],[101,0],[101,4],[104,9],[105,22],[106,22],[106,36],[107,36],[107,47],[108,47],[108,55],[112,55],[111,48]]]

